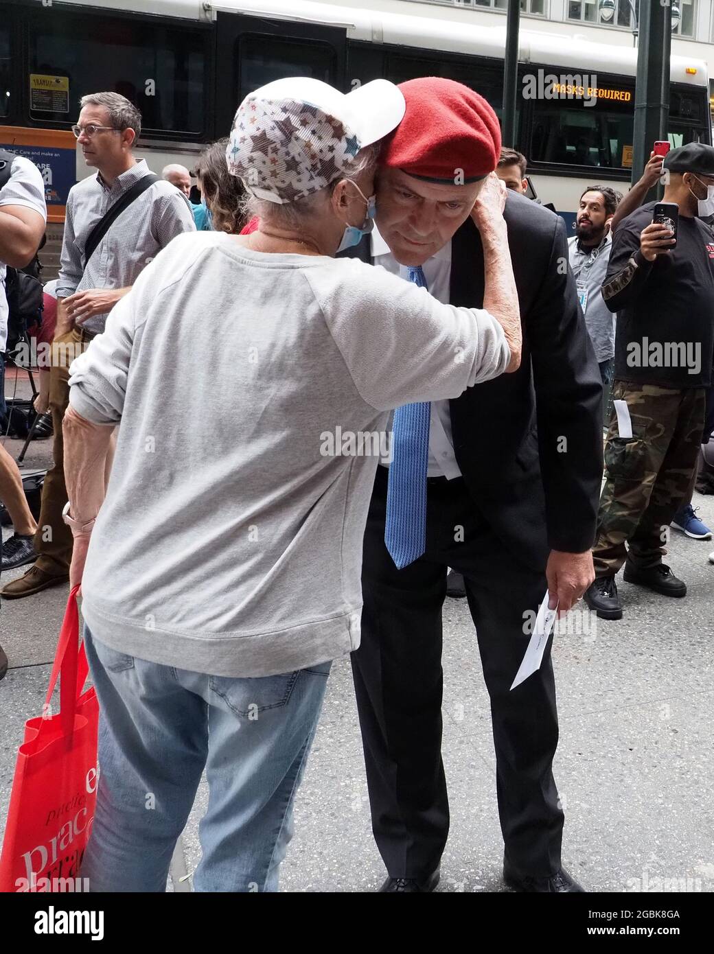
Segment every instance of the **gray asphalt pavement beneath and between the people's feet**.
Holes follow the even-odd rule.
[[[39,445],[33,466],[47,463],[51,452],[50,442]],[[6,446],[16,455],[20,444]],[[696,495],[694,505],[714,527],[714,497]],[[558,626],[555,775],[566,815],[563,862],[589,891],[714,891],[712,550],[714,541],[672,531],[667,560],[687,583],[684,599],[641,590],[620,576],[622,620],[595,621],[580,610]],[[3,584],[23,571],[4,573]],[[2,601],[0,608],[0,643],[10,658],[0,682],[0,837],[16,746],[25,719],[41,712],[68,591]],[[452,825],[437,890],[505,891],[489,703],[466,601],[447,599],[443,621]],[[203,780],[174,871],[190,875],[200,859],[206,801]],[[330,674],[295,829],[282,890],[374,891],[383,881],[346,659]],[[176,888],[189,884],[177,879]],[[168,889],[175,889],[171,881]]]

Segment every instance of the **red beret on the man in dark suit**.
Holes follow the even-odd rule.
[[[464,182],[494,172],[501,130],[498,116],[483,96],[441,76],[410,79],[399,89],[407,112],[382,143],[382,165],[452,184],[458,170],[463,170]]]

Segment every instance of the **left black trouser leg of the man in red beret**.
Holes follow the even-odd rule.
[[[447,566],[425,556],[397,570],[385,546],[386,508],[387,472],[378,467],[365,533],[362,642],[352,653],[352,675],[374,839],[390,878],[423,881],[438,867],[449,834],[441,760]]]

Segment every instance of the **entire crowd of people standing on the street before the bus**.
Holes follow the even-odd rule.
[[[67,203],[36,524],[0,448],[4,565],[32,563],[0,596],[82,588],[101,712],[82,876],[163,891],[205,771],[195,889],[277,890],[349,654],[380,890],[432,891],[450,593],[491,699],[504,880],[583,891],[561,861],[550,646],[511,684],[544,594],[620,618],[623,565],[683,596],[663,530],[711,536],[691,500],[714,430],[714,149],[652,156],[625,197],[589,186],[569,239],[452,80],[270,83],[201,154],[200,203],[188,169],[136,159],[140,124],[95,93],[73,127],[96,175]],[[0,260],[21,267],[46,210],[36,169],[12,168]],[[663,175],[676,244],[641,205]],[[352,449],[326,451],[338,432]],[[385,432],[389,453],[360,441]]]

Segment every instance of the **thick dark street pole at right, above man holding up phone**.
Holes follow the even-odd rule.
[[[640,4],[640,37],[635,88],[632,183],[642,175],[653,144],[666,139],[669,120],[669,54],[672,10],[669,4]],[[645,198],[655,198],[655,190]]]

